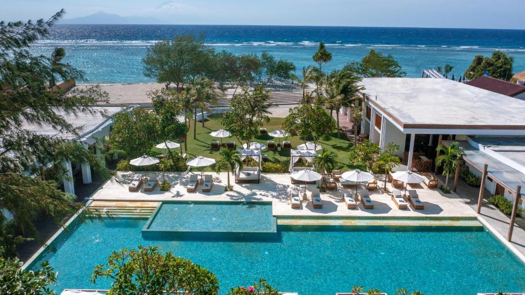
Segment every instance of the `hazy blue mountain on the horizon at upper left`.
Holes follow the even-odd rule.
[[[88,16],[64,19],[60,24],[81,25],[153,25],[164,24],[159,19],[147,16],[120,16],[107,12],[97,12]]]

